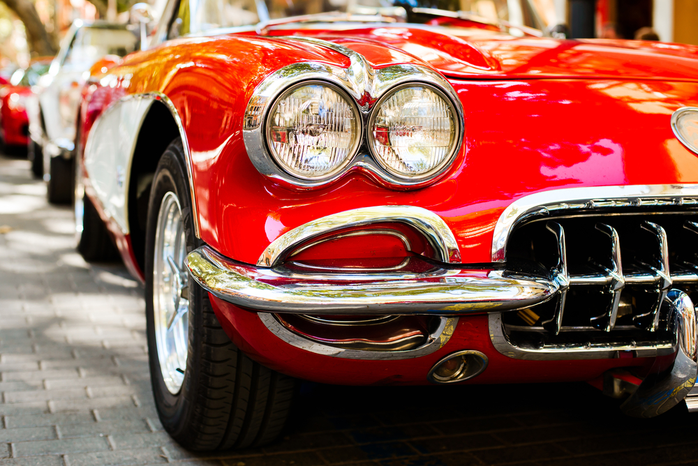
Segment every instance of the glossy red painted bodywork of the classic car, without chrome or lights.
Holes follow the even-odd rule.
[[[283,37],[281,37],[283,36]],[[316,189],[261,174],[242,137],[255,88],[293,63],[348,68],[332,47],[361,54],[374,70],[410,64],[445,77],[461,100],[465,133],[449,169],[422,188],[386,186],[361,167]],[[443,219],[468,267],[503,263],[493,247],[498,221],[517,200],[568,188],[692,186],[698,157],[672,132],[671,115],[698,105],[697,47],[623,40],[554,40],[491,31],[392,25],[298,28],[179,38],[96,70],[84,88],[80,150],[94,121],[132,95],[171,103],[191,154],[198,235],[230,260],[255,264],[281,235],[313,220],[373,206],[417,206]],[[156,137],[155,133],[151,133]],[[144,156],[135,149],[135,158]],[[134,158],[134,160],[135,160]],[[133,170],[133,169],[132,169]],[[121,255],[144,278],[142,240],[125,232],[96,191],[86,193],[110,225]],[[128,175],[133,176],[133,175]],[[130,209],[135,209],[135,200]],[[308,260],[351,264],[362,257],[406,257],[386,239],[368,246],[306,253]],[[459,350],[487,355],[487,370],[465,383],[599,381],[614,368],[650,367],[656,355],[621,350],[611,357],[518,358],[493,344],[487,313],[461,315],[435,352],[413,359],[350,359],[290,345],[258,313],[210,295],[235,344],[282,373],[336,384],[426,384],[440,359]],[[595,383],[597,383],[595,382]],[[599,382],[600,383],[600,382]]]

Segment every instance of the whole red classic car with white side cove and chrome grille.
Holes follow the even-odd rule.
[[[698,50],[532,5],[172,0],[94,69],[78,248],[144,281],[174,439],[269,442],[294,379],[697,409]]]

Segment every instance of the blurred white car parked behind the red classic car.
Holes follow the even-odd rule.
[[[105,55],[124,57],[136,50],[138,30],[132,28],[108,22],[73,22],[49,72],[39,80],[35,90],[38,99],[27,105],[29,154],[43,160],[49,202],[65,203],[72,198],[77,107],[89,69]],[[38,170],[35,173],[40,175]]]

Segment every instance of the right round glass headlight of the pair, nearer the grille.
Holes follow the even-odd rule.
[[[450,163],[459,122],[451,101],[438,89],[408,84],[387,94],[371,120],[369,145],[388,172],[424,179]]]

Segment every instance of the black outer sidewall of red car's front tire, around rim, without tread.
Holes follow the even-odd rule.
[[[186,369],[181,389],[179,393],[173,395],[165,386],[160,362],[158,361],[154,320],[153,268],[158,214],[163,197],[170,191],[177,195],[179,199],[181,216],[184,221],[186,252],[190,253],[191,250],[199,246],[200,241],[196,239],[193,230],[191,196],[186,176],[186,165],[181,141],[175,140],[163,153],[152,182],[145,247],[145,301],[151,384],[161,423],[175,439],[177,439],[178,433],[184,433],[191,415],[192,403],[189,400],[193,399],[193,391],[196,389],[195,380],[197,380],[197,371],[200,366],[195,361],[196,358],[200,357],[200,352],[197,351],[197,347],[200,344],[199,332],[197,330],[200,328],[201,323],[198,322],[200,321],[200,313],[197,310],[201,308],[203,305],[202,301],[207,296],[204,296],[203,290],[197,287],[193,280],[190,279],[188,285],[189,312],[187,313],[187,318],[189,336]]]

